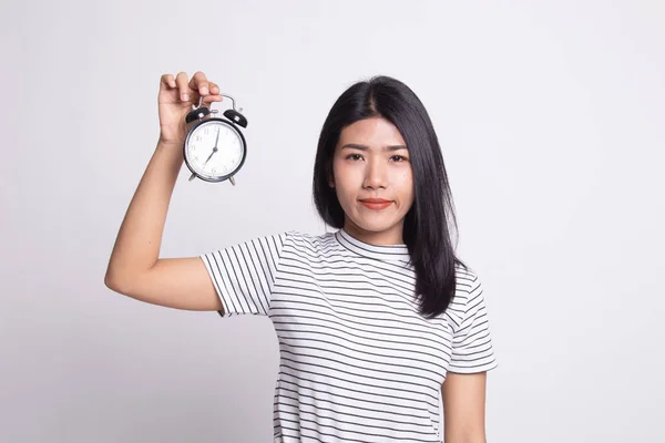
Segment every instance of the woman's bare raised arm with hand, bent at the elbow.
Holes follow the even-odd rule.
[[[111,253],[104,284],[153,305],[186,310],[223,310],[200,257],[160,258],[166,214],[178,172],[192,104],[222,101],[219,87],[197,72],[164,74],[157,97],[160,138],[129,205]]]

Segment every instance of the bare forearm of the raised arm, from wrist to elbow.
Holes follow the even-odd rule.
[[[160,257],[168,205],[183,164],[182,151],[157,143],[122,222],[106,284],[150,269]]]

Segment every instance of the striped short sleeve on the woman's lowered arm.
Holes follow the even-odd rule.
[[[449,371],[474,373],[497,368],[482,282],[472,275],[467,285],[458,284],[458,293],[463,298],[458,301],[463,311],[459,324],[453,327]]]

